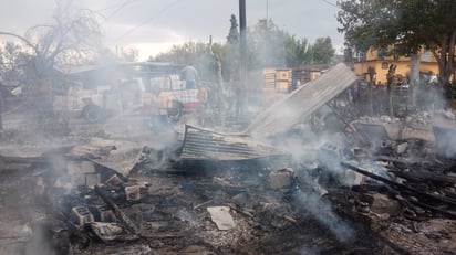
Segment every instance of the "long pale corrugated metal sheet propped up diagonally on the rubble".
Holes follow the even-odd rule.
[[[350,67],[340,63],[319,78],[307,83],[267,108],[258,115],[245,134],[261,138],[287,131],[338,96],[356,79],[356,75]]]

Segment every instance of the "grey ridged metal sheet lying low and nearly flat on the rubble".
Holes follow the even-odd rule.
[[[247,160],[283,155],[279,150],[247,138],[222,135],[186,125],[183,160]]]

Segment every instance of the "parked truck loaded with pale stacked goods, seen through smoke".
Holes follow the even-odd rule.
[[[91,123],[128,114],[166,115],[177,121],[185,111],[195,110],[207,100],[205,88],[187,88],[178,75],[123,79],[76,94],[83,105],[82,117]]]

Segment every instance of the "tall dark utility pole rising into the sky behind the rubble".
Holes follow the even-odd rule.
[[[239,50],[240,50],[240,66],[239,66],[239,86],[237,89],[237,115],[245,117],[248,105],[247,79],[247,43],[246,43],[246,0],[239,0]]]

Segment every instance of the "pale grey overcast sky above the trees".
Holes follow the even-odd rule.
[[[2,0],[6,1],[6,0]],[[186,41],[225,42],[230,15],[239,21],[239,0],[79,0],[100,13],[105,44],[114,50],[134,46],[139,60]],[[0,31],[23,32],[51,21],[54,0],[14,0],[0,9]],[[246,0],[247,26],[269,18],[279,28],[312,43],[330,36],[340,51],[335,0]],[[0,38],[4,41],[6,38]]]

